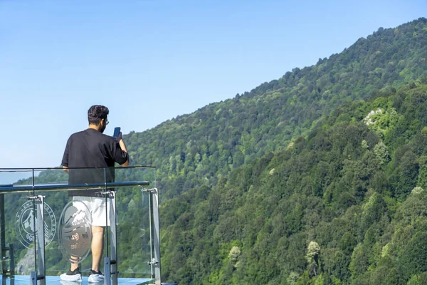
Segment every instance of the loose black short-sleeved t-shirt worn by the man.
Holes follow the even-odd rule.
[[[115,162],[122,165],[128,160],[119,143],[108,135],[88,128],[74,133],[68,138],[65,147],[62,165],[69,167],[68,183],[104,183],[114,182]],[[98,169],[73,169],[73,167],[99,167]],[[69,191],[70,196],[97,196],[99,190]]]

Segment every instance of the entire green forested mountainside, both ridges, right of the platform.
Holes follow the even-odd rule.
[[[164,277],[421,284],[425,76],[422,18],[125,136],[158,167]]]

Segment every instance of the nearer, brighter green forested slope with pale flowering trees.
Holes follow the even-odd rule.
[[[177,219],[162,234],[166,278],[421,284],[427,276],[422,82],[345,103],[288,150],[234,170],[210,191],[170,199],[162,220],[169,222],[171,212]]]

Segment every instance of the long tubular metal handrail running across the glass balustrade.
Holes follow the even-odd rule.
[[[22,193],[28,191],[57,191],[57,190],[102,190],[114,187],[149,186],[148,181],[126,181],[108,183],[54,184],[54,185],[15,185],[0,187],[0,194]]]

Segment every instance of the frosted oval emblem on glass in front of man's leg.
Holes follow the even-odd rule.
[[[85,203],[71,201],[65,205],[59,219],[59,245],[63,257],[80,263],[88,257],[92,241],[92,217]]]

